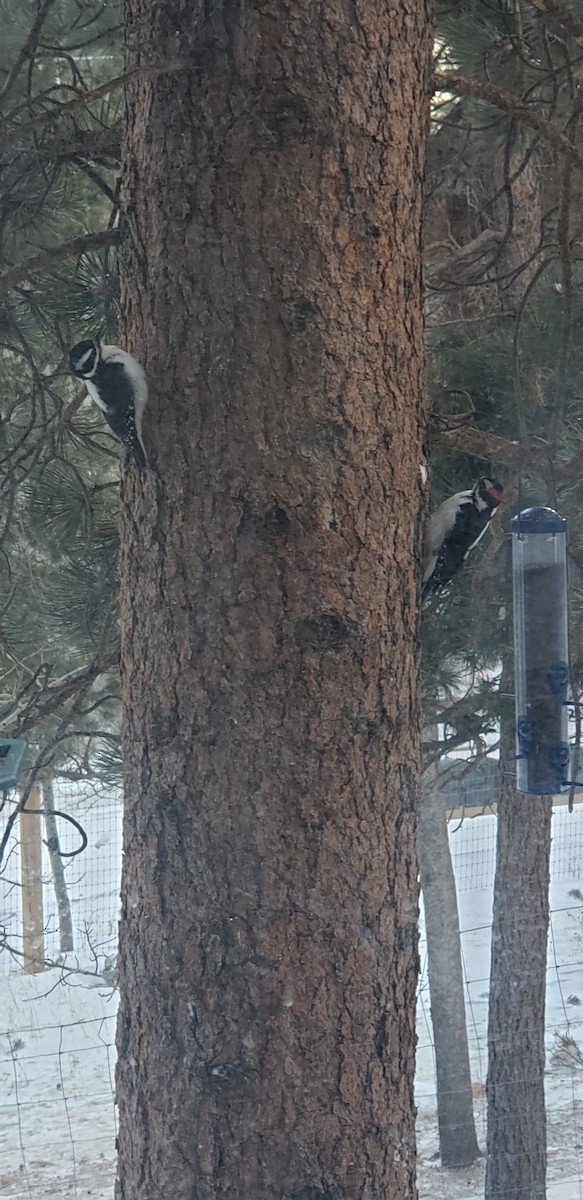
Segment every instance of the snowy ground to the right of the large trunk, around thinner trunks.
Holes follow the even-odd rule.
[[[481,1148],[486,1145],[487,1018],[495,817],[450,823],[459,926],[467,980],[467,1021],[470,1045],[475,1121]],[[547,1200],[583,1200],[583,805],[573,814],[554,810],[551,866],[551,931],[547,955],[546,1100],[548,1181]],[[581,866],[581,870],[578,868]],[[476,884],[473,887],[473,878]],[[461,883],[461,886],[459,886]],[[417,1150],[420,1200],[479,1200],[483,1196],[483,1159],[469,1170],[444,1170],[439,1164],[435,1080],[423,926],[422,977],[417,1006]],[[581,1006],[581,1007],[579,1007]],[[557,1055],[558,1037],[567,1034],[581,1046],[582,1061]]]

